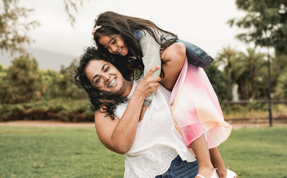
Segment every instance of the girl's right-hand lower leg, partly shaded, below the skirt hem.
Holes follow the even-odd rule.
[[[224,166],[223,160],[220,156],[219,150],[217,147],[211,148],[209,150],[211,162],[215,168],[217,168],[216,172],[219,178],[225,178],[227,169]]]

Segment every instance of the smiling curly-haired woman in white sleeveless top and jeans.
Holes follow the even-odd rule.
[[[153,67],[141,81],[128,81],[108,60],[112,59],[104,59],[94,47],[87,48],[75,79],[96,110],[99,139],[108,149],[125,154],[125,177],[194,178],[198,165],[174,127],[168,106],[170,91],[159,85],[159,77],[152,77],[159,67]],[[139,123],[144,98],[153,91],[154,98]],[[114,101],[108,103],[107,113],[99,111],[103,99]]]

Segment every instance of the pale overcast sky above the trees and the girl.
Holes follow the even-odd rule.
[[[94,19],[108,10],[151,20],[213,57],[228,45],[239,50],[247,46],[235,39],[241,30],[226,24],[233,17],[245,15],[237,9],[235,0],[83,0],[78,12],[73,13],[74,27],[64,10],[64,0],[20,0],[20,3],[34,8],[31,17],[41,23],[30,33],[35,40],[32,47],[53,52],[81,55],[85,46],[93,45]]]

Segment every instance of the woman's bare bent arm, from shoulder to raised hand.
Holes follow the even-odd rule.
[[[133,145],[144,98],[159,86],[160,77],[152,77],[153,67],[134,90],[129,104],[119,120],[111,120],[105,113],[95,112],[95,126],[99,139],[111,151],[125,154]]]

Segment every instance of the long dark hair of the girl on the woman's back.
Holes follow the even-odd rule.
[[[134,36],[133,32],[135,29],[146,30],[150,35],[152,35],[154,40],[161,46],[161,52],[164,51],[166,47],[174,44],[178,38],[177,35],[159,28],[149,20],[121,15],[112,11],[107,11],[99,14],[98,19],[95,20],[94,28],[97,26],[102,27],[98,28],[97,31],[93,34],[93,40],[95,45],[97,45],[103,53],[108,54],[109,52],[103,45],[99,43],[99,38],[101,36],[120,34],[124,38],[124,43],[129,47],[129,52],[127,55],[140,59],[138,62],[138,68],[142,69],[144,69],[144,64],[142,62],[143,53],[136,37]],[[168,33],[174,36],[175,39],[161,43],[154,31],[162,31],[164,33]]]

